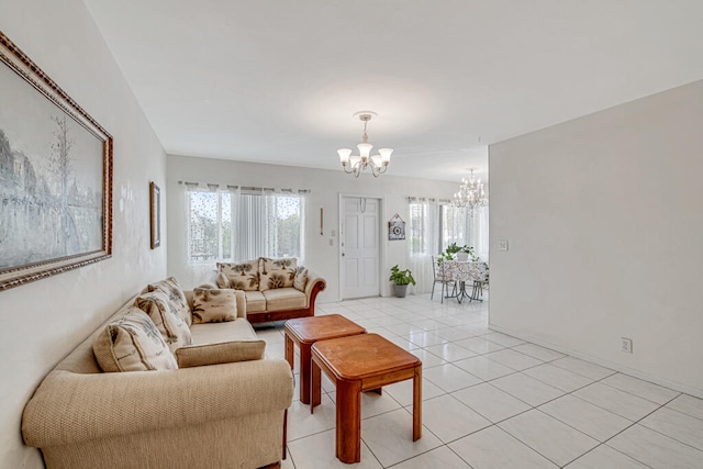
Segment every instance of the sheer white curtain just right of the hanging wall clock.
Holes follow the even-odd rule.
[[[410,270],[417,284],[413,293],[428,293],[434,281],[432,256],[439,249],[439,226],[436,199],[408,198],[410,230],[405,230],[409,238]]]

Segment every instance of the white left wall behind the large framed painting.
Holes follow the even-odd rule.
[[[166,245],[149,249],[148,225],[148,182],[165,188],[166,155],[80,0],[2,0],[0,30],[114,137],[112,258],[0,292],[0,467],[33,468],[42,458],[23,446],[20,422],[34,389],[166,275]]]

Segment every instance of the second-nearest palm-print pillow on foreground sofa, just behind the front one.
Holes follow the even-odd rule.
[[[141,294],[134,305],[148,314],[171,350],[193,343],[190,327],[163,291]]]

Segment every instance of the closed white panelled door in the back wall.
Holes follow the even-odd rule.
[[[343,197],[339,255],[342,299],[378,297],[380,199]]]

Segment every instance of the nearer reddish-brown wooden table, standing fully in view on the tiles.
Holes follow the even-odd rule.
[[[312,346],[312,402],[321,401],[320,370],[337,387],[336,456],[361,460],[361,392],[413,379],[413,442],[422,436],[422,361],[378,334],[316,342]]]

